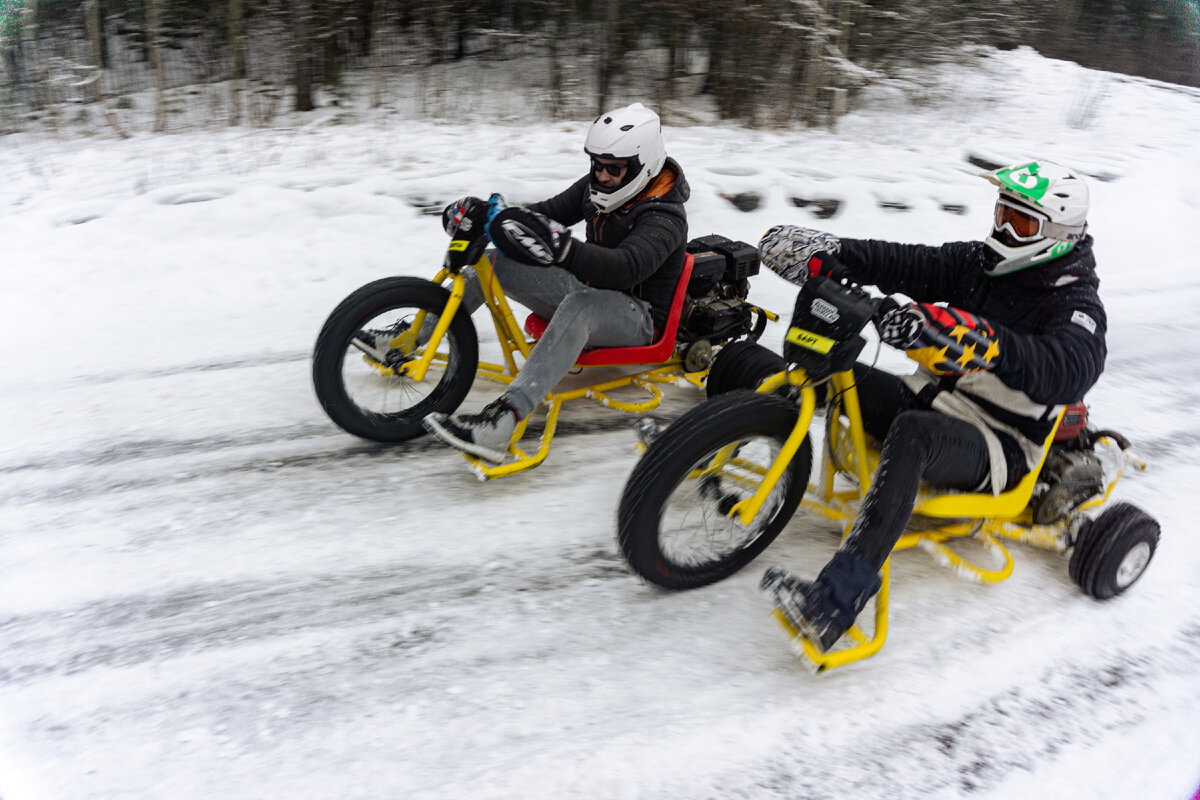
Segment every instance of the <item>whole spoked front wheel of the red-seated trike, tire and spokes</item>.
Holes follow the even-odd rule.
[[[392,277],[373,281],[338,303],[320,329],[312,356],[313,389],[329,419],[356,437],[395,443],[424,434],[421,420],[427,414],[457,409],[479,366],[479,341],[464,309],[455,314],[420,383],[386,374],[352,344],[362,330],[408,330],[422,311],[436,320],[449,300],[450,293],[431,281]],[[416,359],[422,351],[418,342],[403,357]]]

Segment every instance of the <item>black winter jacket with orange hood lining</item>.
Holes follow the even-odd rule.
[[[529,207],[564,225],[587,222],[587,241],[575,242],[559,265],[598,289],[617,289],[650,303],[655,325],[671,308],[688,243],[691,194],[673,158],[646,190],[624,206],[600,213],[588,199],[592,176]]]

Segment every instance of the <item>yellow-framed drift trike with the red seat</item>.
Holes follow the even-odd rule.
[[[468,218],[450,240],[442,270],[432,281],[389,277],[368,283],[343,300],[325,320],[313,353],[317,398],[341,428],[374,441],[397,443],[425,433],[421,420],[433,411],[454,413],[475,377],[508,384],[545,331],[546,320],[530,314],[524,330],[492,270],[486,219]],[[644,347],[584,350],[577,368],[635,367],[632,372],[546,396],[545,428],[536,452],[517,443],[534,415],[517,426],[509,459],[498,465],[463,455],[481,480],[536,467],[550,452],[564,403],[587,398],[608,408],[643,413],[656,408],[656,384],[686,381],[700,389],[715,348],[737,338],[757,339],[768,319],[778,317],[746,302],[749,277],[758,271],[754,246],[724,236],[688,243],[683,273],[670,314],[658,338]],[[503,363],[479,360],[479,339],[470,315],[461,308],[472,266],[496,326]],[[622,399],[611,392],[635,387],[646,396]]]

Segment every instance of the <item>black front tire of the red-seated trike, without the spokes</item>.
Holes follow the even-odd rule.
[[[414,404],[396,411],[374,411],[360,407],[350,397],[346,386],[343,362],[352,349],[350,337],[368,324],[368,320],[394,309],[425,309],[440,314],[450,300],[450,293],[431,281],[412,277],[394,277],[373,281],[352,293],[330,313],[317,336],[312,356],[312,384],[317,399],[334,422],[347,433],[374,441],[406,441],[425,433],[421,420],[433,411],[450,413],[458,408],[475,380],[479,366],[479,341],[470,317],[462,309],[455,314],[439,349],[452,353],[451,365],[437,384]],[[355,350],[352,356],[358,351]],[[362,365],[364,371],[371,367]],[[396,383],[397,393],[407,379],[379,378]],[[409,385],[410,381],[409,381]],[[424,387],[422,387],[424,389]]]

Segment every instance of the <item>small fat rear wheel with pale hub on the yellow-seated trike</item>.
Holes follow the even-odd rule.
[[[1141,577],[1159,533],[1158,522],[1138,506],[1109,506],[1080,528],[1067,567],[1072,581],[1097,600],[1115,597]]]

